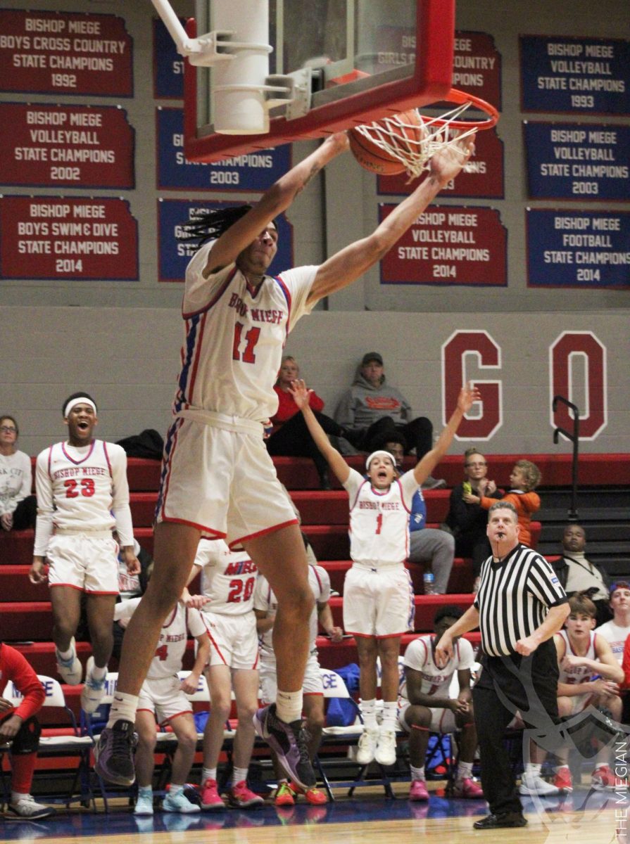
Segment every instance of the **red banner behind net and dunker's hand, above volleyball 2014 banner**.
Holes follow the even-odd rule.
[[[406,173],[377,176],[377,192],[406,196],[415,190],[424,175],[409,184]],[[475,154],[464,164],[459,176],[443,187],[441,193],[443,197],[503,198],[503,142],[495,128],[476,134]]]

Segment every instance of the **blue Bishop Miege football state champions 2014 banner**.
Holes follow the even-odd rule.
[[[630,289],[630,212],[528,208],[529,287]]]

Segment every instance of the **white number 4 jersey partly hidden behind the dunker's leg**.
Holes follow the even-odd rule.
[[[142,598],[131,598],[124,603],[117,603],[114,609],[114,619],[120,621],[122,626],[126,627],[141,600]],[[206,626],[196,609],[187,609],[181,601],[178,601],[160,628],[160,636],[155,647],[153,661],[149,666],[147,679],[172,677],[173,674],[182,670],[188,633],[195,639],[198,636],[204,636],[204,633],[207,633]]]

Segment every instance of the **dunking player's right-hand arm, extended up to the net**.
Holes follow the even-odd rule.
[[[313,305],[323,296],[346,287],[359,278],[389,252],[394,243],[405,234],[410,225],[449,181],[459,174],[475,149],[474,136],[470,135],[453,146],[436,153],[431,160],[431,170],[415,191],[403,200],[372,235],[345,246],[324,261],[312,284],[308,302]]]

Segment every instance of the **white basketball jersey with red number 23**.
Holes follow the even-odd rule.
[[[75,448],[57,442],[38,457],[51,479],[55,527],[65,530],[113,530],[111,460],[121,446],[94,440]],[[123,452],[124,453],[124,452]],[[38,495],[39,497],[39,495]]]

